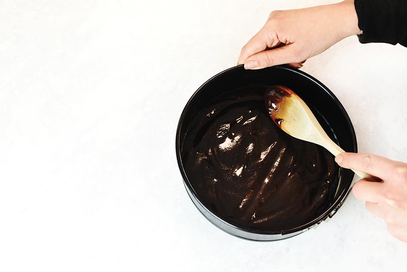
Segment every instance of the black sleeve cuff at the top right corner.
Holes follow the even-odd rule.
[[[354,0],[359,42],[400,43],[407,47],[407,0]]]

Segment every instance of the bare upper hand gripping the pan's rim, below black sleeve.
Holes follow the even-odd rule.
[[[242,48],[237,64],[244,64],[245,69],[279,64],[300,68],[306,59],[324,52],[340,40],[361,34],[357,23],[353,0],[275,10],[263,28]]]

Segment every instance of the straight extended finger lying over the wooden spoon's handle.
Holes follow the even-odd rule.
[[[387,158],[360,153],[341,153],[335,161],[343,168],[363,171],[382,180],[388,180],[397,166],[397,162]]]

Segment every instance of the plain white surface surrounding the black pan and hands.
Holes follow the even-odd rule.
[[[181,111],[273,9],[322,0],[0,1],[0,271],[406,271],[350,196],[316,230],[232,237],[189,199]],[[305,64],[359,151],[407,161],[407,49],[350,37]]]

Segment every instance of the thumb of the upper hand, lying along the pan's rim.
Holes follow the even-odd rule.
[[[245,69],[262,69],[286,63],[300,63],[300,50],[295,44],[284,45],[278,48],[256,53],[245,60]]]

